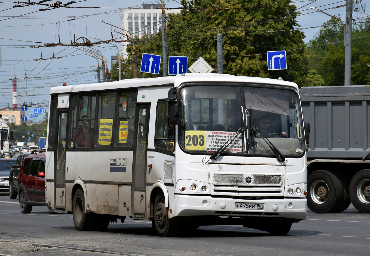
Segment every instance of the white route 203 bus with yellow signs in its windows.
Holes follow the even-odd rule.
[[[46,202],[77,230],[126,216],[286,234],[307,214],[298,86],[219,74],[51,89]]]

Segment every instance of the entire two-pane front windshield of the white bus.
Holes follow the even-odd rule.
[[[180,98],[180,144],[186,151],[214,153],[246,124],[247,130],[238,134],[224,153],[274,156],[271,143],[284,156],[303,154],[301,110],[293,91],[256,86],[244,86],[242,91],[238,86],[187,86],[181,89]]]

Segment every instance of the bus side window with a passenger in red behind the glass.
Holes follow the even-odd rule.
[[[95,95],[83,95],[80,99],[80,118],[78,119],[78,129],[74,131],[73,138],[77,147],[92,147],[94,142],[95,125]],[[77,134],[76,134],[77,132]],[[76,138],[77,136],[77,138]]]

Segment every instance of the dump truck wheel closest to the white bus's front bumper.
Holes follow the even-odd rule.
[[[343,184],[334,174],[314,171],[307,178],[307,206],[316,213],[337,212],[344,200]]]

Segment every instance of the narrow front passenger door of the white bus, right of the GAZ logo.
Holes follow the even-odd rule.
[[[138,104],[137,112],[137,138],[135,144],[134,164],[132,167],[133,195],[132,195],[132,218],[145,219],[145,182],[147,164],[147,141],[149,129],[148,104]]]

